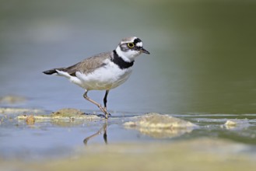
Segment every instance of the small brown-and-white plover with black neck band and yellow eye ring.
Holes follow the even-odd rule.
[[[107,119],[110,115],[107,111],[107,95],[110,89],[120,86],[129,78],[135,58],[142,53],[150,54],[144,49],[142,40],[138,37],[126,37],[113,51],[96,54],[75,65],[66,68],[53,68],[43,73],[63,76],[85,89],[83,97],[98,106]],[[104,106],[87,96],[90,90],[105,90]]]

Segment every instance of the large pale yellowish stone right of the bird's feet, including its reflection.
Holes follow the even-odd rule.
[[[191,132],[197,125],[167,114],[147,113],[124,123],[124,127],[134,128],[153,138],[170,138]]]

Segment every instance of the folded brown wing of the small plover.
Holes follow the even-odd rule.
[[[110,58],[110,52],[105,52],[97,54],[93,57],[86,58],[79,63],[72,65],[67,68],[61,68],[61,71],[68,72],[69,75],[75,76],[75,72],[82,72],[84,74],[89,74],[93,72],[96,68],[100,68],[103,64],[103,61],[107,58]]]

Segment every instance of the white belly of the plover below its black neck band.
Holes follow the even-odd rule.
[[[121,69],[112,62],[104,67],[97,68],[94,72],[87,75],[76,72],[74,76],[69,77],[70,81],[83,89],[114,89],[124,83],[132,73],[132,68]]]

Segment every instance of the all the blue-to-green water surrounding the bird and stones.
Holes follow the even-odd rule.
[[[135,61],[128,82],[111,90],[107,141],[187,141],[209,137],[248,145],[255,152],[256,3],[253,1],[0,2],[0,96],[23,103],[2,107],[46,110],[96,106],[83,90],[44,70],[73,65],[137,36],[151,53]],[[96,101],[103,92],[89,92]],[[167,113],[200,127],[171,138],[152,138],[122,126],[125,118]],[[30,113],[28,113],[30,114]],[[0,114],[0,156],[46,158],[72,154],[104,121],[27,125]],[[12,117],[12,119],[10,119]],[[226,120],[237,119],[237,127]],[[88,141],[104,145],[103,134]],[[252,146],[251,146],[252,145]]]

